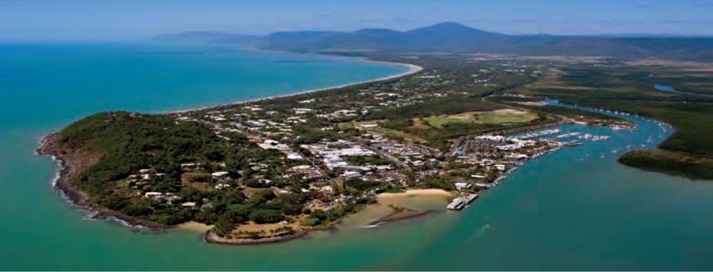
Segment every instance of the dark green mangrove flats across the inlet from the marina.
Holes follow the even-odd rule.
[[[713,142],[707,140],[713,137],[713,98],[654,88],[654,83],[660,83],[658,79],[664,79],[661,82],[663,84],[682,84],[686,76],[692,76],[696,78],[692,80],[693,83],[707,82],[709,66],[701,66],[701,63],[672,64],[665,67],[631,66],[618,61],[596,65],[578,64],[562,68],[563,75],[560,78],[543,80],[514,93],[526,95],[532,100],[558,99],[570,105],[617,110],[667,122],[675,127],[676,132],[658,145],[660,150],[629,152],[620,158],[620,162],[692,179],[713,179],[711,172],[707,171],[713,168]],[[679,77],[667,79],[652,75]],[[697,90],[688,90],[699,93],[713,90],[704,84],[697,86]],[[679,87],[687,90],[682,85]],[[568,110],[553,108],[558,111]]]

